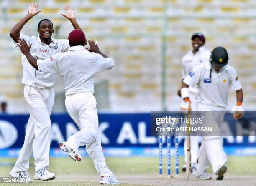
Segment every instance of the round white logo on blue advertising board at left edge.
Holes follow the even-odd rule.
[[[0,149],[12,146],[18,138],[15,126],[5,120],[0,120]]]

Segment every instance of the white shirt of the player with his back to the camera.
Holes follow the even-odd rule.
[[[95,73],[114,67],[111,58],[89,52],[83,46],[70,47],[45,60],[37,60],[40,72],[59,74],[65,87],[65,96],[74,93],[94,93]]]

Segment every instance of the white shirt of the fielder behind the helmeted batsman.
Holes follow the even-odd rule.
[[[182,79],[184,79],[188,73],[193,70],[197,65],[202,63],[208,63],[210,59],[211,52],[209,50],[205,50],[204,47],[200,47],[199,50],[193,54],[192,50],[189,51],[182,58]],[[197,87],[189,87],[189,91],[197,94]]]

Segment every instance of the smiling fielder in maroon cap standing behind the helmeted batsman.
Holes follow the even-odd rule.
[[[189,74],[193,68],[197,65],[203,63],[209,63],[211,52],[204,48],[205,36],[202,33],[194,33],[191,37],[192,50],[190,50],[182,58],[182,81]],[[197,86],[189,87],[191,109],[192,111],[197,111],[197,103],[195,97],[198,93]],[[180,90],[178,90],[178,96],[180,95]],[[195,167],[198,158],[199,143],[202,142],[201,136],[191,136],[190,137],[190,152],[191,152],[191,168]],[[184,155],[185,162],[187,161],[187,138],[184,141]],[[186,164],[182,166],[182,171],[186,171]]]

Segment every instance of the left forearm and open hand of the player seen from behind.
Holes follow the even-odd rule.
[[[38,65],[37,65],[37,60],[34,58],[30,53],[29,50],[31,48],[30,44],[29,46],[27,45],[26,41],[24,39],[19,39],[18,40],[18,47],[20,48],[20,51],[26,56],[28,62],[33,66],[33,68],[36,68],[38,70]]]

